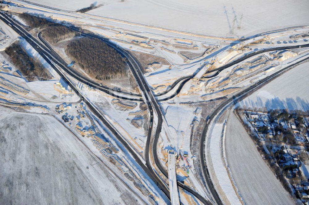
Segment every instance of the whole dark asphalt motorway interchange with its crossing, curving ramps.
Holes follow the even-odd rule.
[[[134,76],[142,94],[139,95],[139,94],[133,94],[133,93],[130,93],[130,92],[114,90],[113,88],[109,88],[107,86],[99,84],[99,83],[95,82],[94,80],[91,80],[91,79],[83,76],[82,74],[76,72],[74,69],[68,68],[67,67],[68,63],[65,62],[65,60],[63,58],[61,58],[61,56],[58,55],[56,51],[53,50],[53,48],[49,45],[49,43],[47,43],[42,38],[41,33],[38,34],[38,39],[39,39],[38,40],[34,36],[29,34],[25,29],[23,29],[18,23],[16,23],[14,21],[14,19],[10,17],[10,15],[2,12],[1,15],[0,15],[0,18],[5,23],[10,25],[20,36],[22,36],[24,39],[26,39],[28,41],[28,43],[31,44],[32,47],[36,51],[38,51],[40,53],[40,55],[57,71],[57,73],[66,81],[66,83],[70,85],[70,87],[74,90],[74,92],[76,92],[78,94],[78,96],[81,98],[81,100],[83,100],[86,103],[86,105],[91,109],[91,111],[102,121],[102,123],[111,131],[111,133],[113,133],[117,137],[117,139],[123,144],[123,146],[125,146],[125,148],[130,152],[130,154],[132,154],[133,158],[136,160],[136,162],[138,162],[139,166],[142,167],[142,169],[146,172],[146,174],[148,176],[150,176],[150,178],[157,184],[157,186],[163,191],[163,193],[165,195],[167,195],[168,198],[170,198],[168,186],[167,186],[166,182],[164,182],[162,177],[154,170],[154,168],[152,167],[151,160],[150,160],[150,156],[153,156],[153,158],[155,160],[155,165],[157,166],[157,168],[165,176],[165,178],[168,178],[167,170],[162,166],[160,159],[159,159],[159,156],[158,156],[158,151],[157,151],[157,144],[158,144],[159,137],[160,137],[159,135],[161,133],[162,125],[164,123],[163,117],[162,117],[163,113],[162,113],[162,110],[161,110],[158,102],[166,101],[166,100],[169,100],[169,99],[177,96],[177,94],[180,93],[180,91],[184,87],[184,85],[189,80],[193,79],[194,75],[184,76],[184,77],[179,78],[166,91],[161,92],[158,95],[155,95],[152,92],[152,90],[149,88],[149,85],[148,85],[148,83],[147,83],[147,81],[146,81],[146,79],[145,79],[145,77],[142,73],[142,66],[138,62],[138,59],[136,59],[128,51],[117,46],[116,44],[112,43],[108,39],[99,37],[99,36],[91,34],[91,33],[87,33],[85,31],[81,31],[81,30],[79,30],[78,28],[75,28],[75,27],[71,27],[72,29],[75,29],[77,32],[79,32],[80,35],[82,35],[82,36],[89,37],[89,38],[98,38],[98,39],[104,41],[108,45],[115,48],[122,56],[124,56],[127,59],[129,67],[130,67],[130,69],[133,73],[133,76]],[[214,71],[216,71],[216,72],[211,76],[207,76],[206,78],[213,78],[213,77],[217,76],[224,69],[229,68],[229,67],[231,67],[235,64],[238,64],[239,62],[242,62],[246,59],[249,59],[252,56],[260,55],[261,53],[265,53],[265,52],[269,52],[269,51],[284,50],[284,49],[292,49],[292,48],[303,48],[303,47],[309,47],[309,44],[305,43],[301,46],[300,45],[297,45],[297,46],[286,45],[286,46],[275,47],[275,48],[267,48],[267,49],[259,50],[259,51],[256,51],[256,52],[252,52],[248,55],[243,55],[243,56],[231,61],[228,64],[225,64],[225,65],[223,65],[219,68],[212,70],[211,72],[214,72]],[[207,167],[207,164],[206,164],[205,155],[204,155],[204,153],[205,153],[205,146],[204,146],[205,145],[205,136],[206,136],[206,133],[207,133],[207,130],[208,130],[208,125],[210,124],[209,122],[211,122],[222,109],[224,109],[226,106],[229,106],[231,103],[233,103],[234,100],[238,100],[239,98],[247,95],[252,90],[260,87],[261,85],[263,85],[267,81],[269,81],[269,80],[275,78],[276,76],[280,75],[281,72],[284,72],[287,69],[293,68],[297,64],[299,64],[303,61],[306,61],[306,60],[308,60],[308,58],[302,59],[302,60],[298,61],[297,63],[291,64],[288,67],[266,77],[265,79],[258,81],[256,84],[252,85],[251,87],[243,89],[241,92],[236,93],[235,95],[224,100],[210,114],[209,120],[205,124],[204,129],[203,129],[202,134],[201,134],[201,141],[200,141],[200,158],[201,159],[200,159],[200,162],[201,162],[201,168],[203,170],[205,182],[207,183],[207,187],[210,189],[212,197],[217,204],[223,204],[223,202],[222,202],[218,192],[214,188],[214,185],[213,185],[213,182],[211,180],[211,176],[209,174],[208,167]],[[207,74],[207,72],[206,72],[206,74]],[[130,101],[146,102],[146,104],[148,106],[148,110],[150,112],[150,125],[149,125],[150,129],[148,130],[147,141],[146,141],[146,149],[145,149],[146,165],[141,161],[141,159],[138,157],[138,155],[135,153],[135,151],[129,146],[129,144],[121,137],[121,134],[119,134],[118,131],[116,129],[114,129],[114,127],[112,125],[110,125],[110,123],[104,118],[104,116],[102,114],[100,114],[100,112],[91,104],[91,102],[89,102],[87,100],[86,97],[83,96],[83,94],[74,86],[74,84],[71,82],[71,80],[66,75],[74,77],[78,81],[83,82],[87,85],[90,85],[90,86],[92,86],[92,87],[94,87],[94,88],[96,88],[96,89],[98,89],[102,92],[105,92],[108,95],[114,96],[116,98],[120,98],[120,99],[124,99],[124,100],[130,100]],[[177,88],[176,91],[174,93],[170,94],[169,91],[171,91],[174,88]],[[158,96],[163,96],[163,95],[164,95],[163,98],[158,99]],[[157,122],[154,122],[154,119],[155,119],[153,117],[154,115],[158,119]],[[151,126],[153,124],[156,124],[155,130],[153,130],[154,126]],[[152,136],[154,137],[153,140],[151,139]],[[152,148],[152,149],[150,149],[150,148]],[[211,201],[202,197],[199,193],[197,193],[197,191],[193,190],[191,187],[185,185],[184,183],[182,183],[180,181],[177,181],[177,184],[180,188],[182,188],[182,189],[186,190],[187,192],[191,193],[192,195],[194,195],[203,204],[212,204]]]

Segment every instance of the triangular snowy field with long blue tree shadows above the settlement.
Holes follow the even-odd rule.
[[[298,65],[239,103],[247,108],[309,109],[309,62]]]

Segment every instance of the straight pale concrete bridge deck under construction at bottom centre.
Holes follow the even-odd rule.
[[[168,186],[170,189],[171,205],[179,205],[179,196],[176,180],[175,151],[168,151]]]

